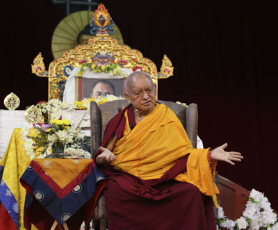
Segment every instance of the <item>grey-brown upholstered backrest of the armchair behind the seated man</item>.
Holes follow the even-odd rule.
[[[181,124],[183,124],[188,138],[193,147],[197,147],[197,129],[198,129],[198,108],[197,104],[190,104],[187,108],[172,101],[161,101],[159,103],[165,104],[177,115]],[[97,106],[95,101],[91,102],[90,106],[90,122],[91,122],[91,142],[92,142],[92,156],[95,156],[97,150],[101,145],[101,140],[104,135],[106,125],[112,117],[117,115],[120,110],[128,106],[129,103],[124,100],[110,101]]]

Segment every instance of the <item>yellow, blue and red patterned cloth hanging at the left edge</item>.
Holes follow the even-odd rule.
[[[23,211],[26,190],[21,186],[19,179],[31,160],[26,156],[21,131],[22,129],[14,129],[0,163],[1,230],[25,229]],[[30,131],[30,134],[32,135],[33,131]],[[32,229],[35,230],[36,228],[33,227]]]

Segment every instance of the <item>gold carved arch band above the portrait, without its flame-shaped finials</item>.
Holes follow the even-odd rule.
[[[49,100],[59,98],[58,91],[54,88],[54,84],[61,80],[67,80],[63,70],[66,65],[71,65],[72,68],[79,66],[79,62],[83,59],[91,60],[94,54],[100,51],[106,51],[113,54],[115,63],[117,60],[126,60],[124,65],[126,69],[134,69],[141,67],[142,71],[147,72],[153,78],[154,83],[157,83],[156,65],[149,58],[142,56],[142,53],[126,44],[117,44],[117,40],[110,36],[107,37],[92,37],[88,44],[80,44],[75,49],[67,50],[61,58],[57,58],[49,65]],[[57,77],[59,76],[59,77]]]

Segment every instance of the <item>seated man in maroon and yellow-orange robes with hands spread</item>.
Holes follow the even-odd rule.
[[[149,74],[133,72],[125,84],[130,105],[108,123],[95,155],[107,179],[108,229],[216,229],[216,162],[243,156],[227,144],[194,149],[174,112],[156,102]]]

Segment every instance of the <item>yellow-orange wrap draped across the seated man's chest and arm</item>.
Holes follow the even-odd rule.
[[[141,179],[159,179],[180,158],[188,157],[187,171],[176,176],[177,181],[192,183],[204,195],[219,193],[213,183],[215,169],[208,165],[208,149],[194,149],[177,116],[163,104],[156,107],[131,131],[127,110],[124,137],[117,141],[111,166]]]

